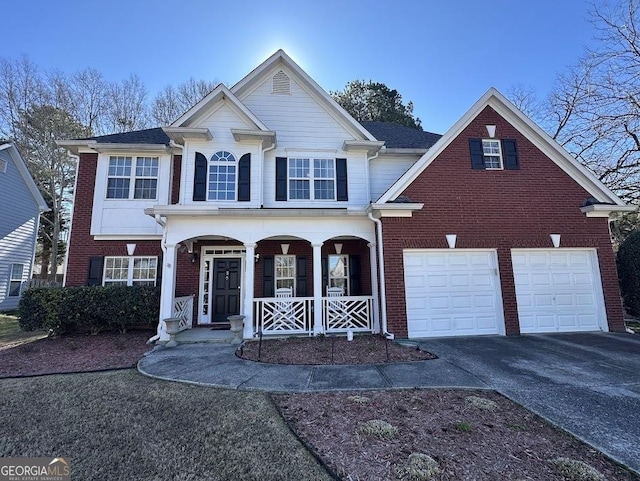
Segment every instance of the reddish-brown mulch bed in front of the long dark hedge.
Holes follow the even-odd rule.
[[[133,367],[153,336],[150,331],[126,334],[67,334],[0,349],[0,378]]]

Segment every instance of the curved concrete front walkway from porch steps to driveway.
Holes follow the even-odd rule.
[[[305,366],[239,359],[229,344],[185,344],[157,348],[142,358],[142,374],[227,389],[313,392],[414,387],[487,388],[448,361]]]

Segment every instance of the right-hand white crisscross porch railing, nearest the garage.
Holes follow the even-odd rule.
[[[327,334],[373,332],[373,297],[323,297],[322,328]]]

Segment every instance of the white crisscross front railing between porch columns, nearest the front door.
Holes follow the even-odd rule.
[[[313,334],[313,297],[263,297],[253,301],[255,332]]]

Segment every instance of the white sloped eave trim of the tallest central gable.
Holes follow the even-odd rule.
[[[289,57],[284,50],[280,49],[271,57],[254,68],[242,80],[231,87],[231,91],[238,97],[243,98],[245,94],[250,92],[262,79],[263,76],[278,64],[284,65],[296,78],[298,83],[316,97],[332,116],[342,123],[349,130],[361,137],[362,140],[376,139],[361,124],[358,123],[349,113],[344,110],[331,95],[329,95],[315,80],[313,80],[300,66]]]

